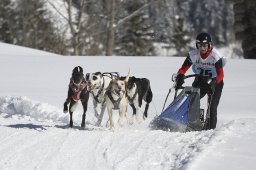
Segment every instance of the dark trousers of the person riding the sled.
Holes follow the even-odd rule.
[[[219,84],[216,84],[213,91],[209,90],[209,86],[206,85],[206,82],[201,82],[197,79],[195,79],[192,86],[200,88],[200,98],[203,98],[206,94],[208,95],[208,103],[210,104],[210,120],[207,120],[209,126],[206,125],[206,127],[208,127],[207,129],[215,129],[217,125],[217,108],[221,98],[224,82],[221,81]]]

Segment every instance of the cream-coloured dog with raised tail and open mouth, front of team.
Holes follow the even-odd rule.
[[[126,87],[129,79],[129,74],[124,80],[113,79],[109,88],[105,94],[106,106],[108,110],[108,121],[107,127],[112,129],[114,127],[113,122],[113,110],[119,110],[119,120],[118,123],[122,127],[124,125],[124,118],[127,112],[128,100],[126,97]]]

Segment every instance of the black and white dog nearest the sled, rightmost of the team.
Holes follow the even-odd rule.
[[[138,119],[137,116],[142,105],[142,100],[146,102],[143,113],[143,119],[145,120],[148,116],[149,103],[153,98],[150,81],[146,78],[136,78],[134,76],[130,77],[127,85],[127,97],[133,110],[133,119],[131,123],[133,123],[135,118]]]

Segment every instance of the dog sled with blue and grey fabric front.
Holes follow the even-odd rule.
[[[195,74],[188,75],[185,76],[185,79],[195,76]],[[174,81],[174,85],[169,89],[165,103],[170,92],[175,89],[175,75],[173,75],[172,81]],[[207,125],[206,120],[209,120],[210,109],[207,109],[204,116],[204,110],[200,109],[200,89],[192,86],[181,87],[182,91],[179,94],[178,90],[175,90],[174,100],[166,109],[164,109],[164,103],[162,113],[150,122],[150,128],[174,132],[204,130]]]

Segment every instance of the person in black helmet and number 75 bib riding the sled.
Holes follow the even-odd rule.
[[[184,74],[192,66],[197,75],[192,86],[200,88],[200,98],[208,95],[210,118],[205,122],[205,130],[215,129],[217,124],[217,107],[224,86],[224,57],[212,46],[208,33],[200,33],[196,37],[196,49],[189,51],[176,77],[176,90],[184,83]]]

